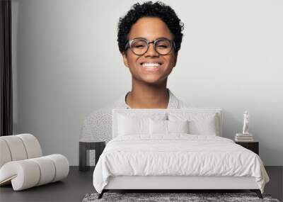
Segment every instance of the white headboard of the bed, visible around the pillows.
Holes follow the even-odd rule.
[[[218,130],[218,136],[222,136],[222,111],[221,108],[113,108],[112,109],[112,138],[117,137],[117,127],[118,127],[118,116],[125,115],[129,117],[149,117],[156,115],[166,115],[167,117],[170,114],[176,113],[191,113],[194,114],[215,114],[216,115],[216,128]]]

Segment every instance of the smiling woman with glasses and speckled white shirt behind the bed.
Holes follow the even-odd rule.
[[[83,122],[80,142],[112,139],[112,108],[190,107],[166,87],[177,62],[182,30],[183,23],[175,11],[161,2],[134,4],[120,18],[117,41],[124,64],[132,74],[132,90],[105,108],[93,111]],[[92,160],[94,157],[91,165]]]

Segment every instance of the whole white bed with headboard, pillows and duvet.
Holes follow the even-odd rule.
[[[262,197],[269,178],[260,157],[221,136],[219,108],[113,109],[113,139],[93,186],[99,198],[110,189],[250,189]]]

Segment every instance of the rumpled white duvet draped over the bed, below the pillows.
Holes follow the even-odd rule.
[[[126,135],[105,147],[93,172],[98,193],[109,176],[253,176],[263,193],[269,177],[258,155],[212,135]]]

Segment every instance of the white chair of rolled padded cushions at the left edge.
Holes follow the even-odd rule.
[[[19,191],[64,179],[69,162],[63,155],[42,157],[37,138],[31,134],[0,137],[0,185]]]

